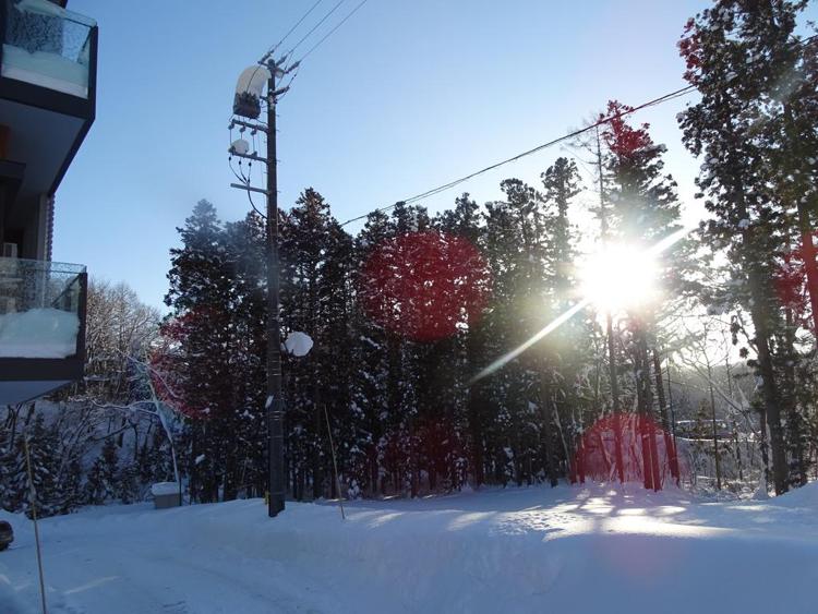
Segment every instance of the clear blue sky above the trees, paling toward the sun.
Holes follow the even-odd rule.
[[[71,0],[99,24],[97,119],[57,195],[55,260],[160,305],[176,227],[195,202],[208,198],[222,219],[245,215],[246,196],[228,188],[236,79],[312,3]],[[299,51],[357,3],[347,0]],[[279,202],[313,186],[347,219],[558,136],[610,98],[637,105],[677,89],[675,43],[706,4],[369,0],[279,105]],[[638,119],[667,145],[666,168],[689,204],[698,165],[675,124],[685,101]],[[461,191],[497,198],[507,177],[537,184],[566,153],[544,151],[424,204],[445,208]],[[687,208],[690,219],[700,214]]]

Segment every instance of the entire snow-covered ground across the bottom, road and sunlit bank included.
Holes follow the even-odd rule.
[[[36,612],[31,523],[3,518],[0,611]],[[818,612],[818,484],[763,503],[513,489],[359,502],[346,520],[334,504],[274,520],[257,499],[141,504],[41,535],[49,612]]]

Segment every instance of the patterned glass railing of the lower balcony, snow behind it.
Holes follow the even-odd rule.
[[[0,258],[0,359],[83,357],[85,267]]]

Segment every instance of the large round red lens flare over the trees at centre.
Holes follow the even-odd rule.
[[[373,250],[359,294],[381,326],[414,341],[434,341],[480,320],[489,279],[483,258],[467,239],[411,232]]]

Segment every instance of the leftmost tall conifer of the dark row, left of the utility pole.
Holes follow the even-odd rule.
[[[182,248],[170,251],[165,302],[175,309],[182,369],[179,394],[192,418],[191,495],[201,502],[218,501],[220,493],[234,498],[239,449],[232,441],[238,413],[233,378],[240,376],[231,364],[234,263],[216,209],[207,201],[200,201],[178,230]]]

